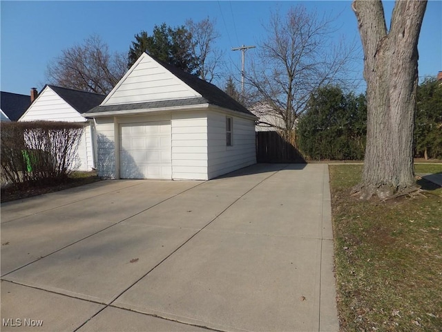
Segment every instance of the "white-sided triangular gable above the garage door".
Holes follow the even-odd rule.
[[[201,95],[144,53],[102,105],[194,97]]]

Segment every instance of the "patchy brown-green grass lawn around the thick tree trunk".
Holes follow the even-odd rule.
[[[361,171],[329,165],[340,330],[440,332],[442,188],[420,180],[425,197],[359,201]]]

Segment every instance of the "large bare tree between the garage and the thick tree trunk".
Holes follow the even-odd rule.
[[[354,44],[332,44],[334,19],[298,5],[286,15],[273,12],[267,38],[257,47],[246,83],[247,104],[261,124],[292,136],[311,93],[336,80],[349,66]],[[274,118],[272,121],[265,119]]]

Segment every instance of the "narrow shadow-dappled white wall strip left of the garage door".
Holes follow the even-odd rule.
[[[115,178],[115,131],[113,118],[97,118],[98,176]]]

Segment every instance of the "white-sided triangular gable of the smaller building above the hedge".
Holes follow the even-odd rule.
[[[37,120],[86,122],[86,119],[50,89],[50,86],[46,86],[19,119],[19,121]]]

